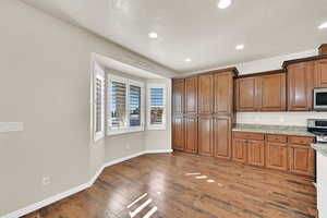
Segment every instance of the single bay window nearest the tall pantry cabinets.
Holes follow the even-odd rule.
[[[166,130],[166,85],[148,84],[147,128]]]

